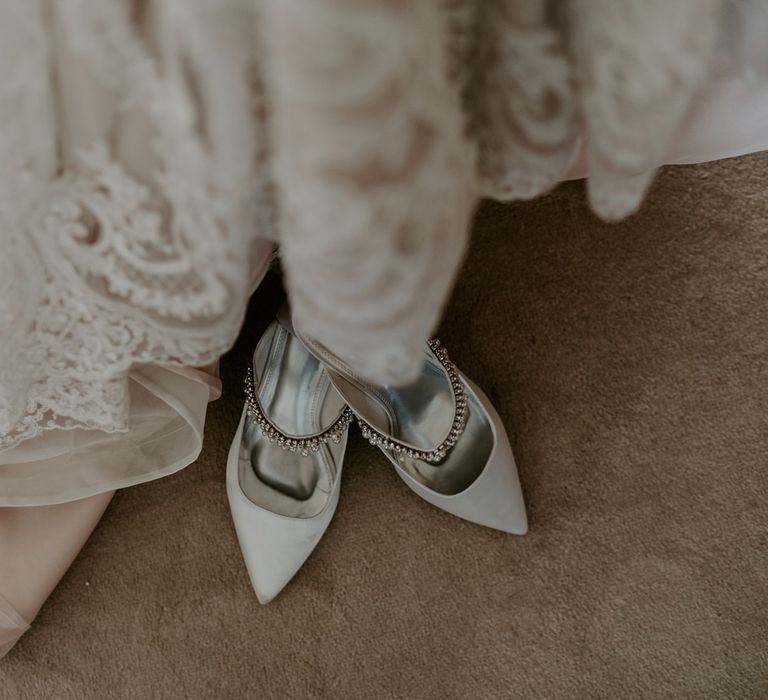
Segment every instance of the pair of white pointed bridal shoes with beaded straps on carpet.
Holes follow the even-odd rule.
[[[486,527],[526,532],[504,427],[437,341],[427,344],[415,383],[373,386],[301,337],[284,308],[254,352],[227,462],[235,530],[262,604],[293,578],[328,527],[355,418],[425,501]]]

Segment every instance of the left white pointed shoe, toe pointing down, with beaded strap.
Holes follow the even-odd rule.
[[[352,413],[323,365],[274,322],[259,340],[227,461],[227,495],[256,596],[271,601],[336,510]]]

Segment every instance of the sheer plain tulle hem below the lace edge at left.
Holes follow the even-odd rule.
[[[140,365],[129,374],[128,392],[124,431],[50,430],[0,453],[0,506],[85,498],[191,464],[220,380],[203,370]]]

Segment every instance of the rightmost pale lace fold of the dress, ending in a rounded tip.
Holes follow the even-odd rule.
[[[721,0],[576,0],[571,47],[590,137],[589,200],[618,219],[640,204],[707,77]]]

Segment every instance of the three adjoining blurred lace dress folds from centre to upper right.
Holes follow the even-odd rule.
[[[723,10],[721,0],[263,6],[294,314],[377,382],[420,370],[478,196],[539,195],[586,143],[595,211],[637,208],[708,74]]]

